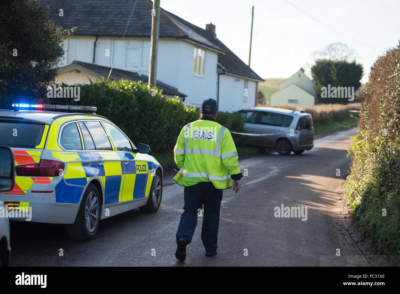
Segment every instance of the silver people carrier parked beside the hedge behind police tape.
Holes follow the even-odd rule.
[[[301,154],[314,147],[312,116],[305,111],[275,107],[253,107],[239,111],[244,116],[248,145],[274,148],[280,155]]]

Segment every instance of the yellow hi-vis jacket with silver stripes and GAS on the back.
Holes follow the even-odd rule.
[[[174,148],[182,186],[211,182],[216,189],[232,187],[230,175],[240,174],[238,153],[230,131],[214,119],[201,117],[185,125]]]

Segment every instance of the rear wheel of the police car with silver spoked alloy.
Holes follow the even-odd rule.
[[[101,200],[94,184],[89,184],[82,197],[75,222],[66,226],[73,240],[91,240],[98,230],[101,215]]]

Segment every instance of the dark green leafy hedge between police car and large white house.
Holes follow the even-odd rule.
[[[198,109],[163,96],[156,87],[150,90],[142,81],[91,82],[81,85],[80,101],[56,99],[48,102],[96,106],[96,113],[118,125],[134,144],[148,144],[154,152],[172,150],[185,121],[200,116]],[[243,131],[244,119],[237,113],[218,113],[217,121],[231,131]],[[242,138],[236,140],[243,144]]]

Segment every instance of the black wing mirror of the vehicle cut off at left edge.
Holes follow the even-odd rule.
[[[0,146],[0,191],[10,191],[14,187],[14,154],[5,146]]]

